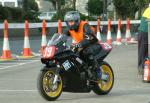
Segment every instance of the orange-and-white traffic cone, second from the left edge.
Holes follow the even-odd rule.
[[[32,52],[30,49],[29,43],[29,23],[25,21],[25,29],[24,29],[24,48],[23,48],[23,55],[24,58],[32,57]]]

